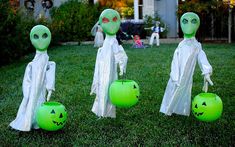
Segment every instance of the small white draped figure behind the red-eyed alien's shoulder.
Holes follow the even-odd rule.
[[[104,43],[104,35],[99,22],[97,22],[91,29],[91,34],[95,36],[94,47],[102,47]]]

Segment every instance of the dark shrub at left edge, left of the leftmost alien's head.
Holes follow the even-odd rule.
[[[14,10],[8,0],[0,3],[0,66],[30,52],[29,32],[35,22],[23,9]]]

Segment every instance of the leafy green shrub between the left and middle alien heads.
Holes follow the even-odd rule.
[[[91,28],[98,21],[100,12],[97,5],[76,0],[63,3],[51,11],[53,40],[82,41],[91,38]]]

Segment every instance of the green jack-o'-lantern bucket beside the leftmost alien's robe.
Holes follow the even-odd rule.
[[[56,131],[65,125],[67,112],[61,103],[45,102],[38,108],[36,120],[40,128]]]

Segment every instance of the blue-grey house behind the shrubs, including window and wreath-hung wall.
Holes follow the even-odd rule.
[[[19,0],[20,6],[25,6],[27,9],[32,9],[35,18],[40,17],[44,14],[45,17],[50,18],[49,9],[51,7],[58,7],[62,3],[68,0]],[[82,1],[82,0],[81,0]],[[83,0],[84,1],[84,0]],[[88,2],[92,2],[87,0]],[[97,3],[102,0],[93,0],[93,3]],[[104,0],[105,1],[105,0]],[[107,2],[108,0],[106,0]],[[178,37],[178,20],[176,16],[176,11],[178,8],[178,0],[116,0],[109,3],[125,3],[129,2],[134,10],[132,18],[128,18],[127,21],[132,21],[136,23],[143,22],[143,18],[146,15],[154,17],[155,14],[161,18],[161,20],[166,23],[168,27],[168,38]],[[117,6],[119,7],[119,6]],[[117,8],[119,9],[119,8]]]

